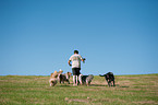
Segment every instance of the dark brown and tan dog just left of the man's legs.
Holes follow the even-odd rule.
[[[71,74],[72,74],[71,72],[66,72],[66,73],[64,73],[64,74],[60,74],[60,75],[59,75],[59,82],[60,82],[60,83],[68,82],[68,83],[70,84],[69,79],[70,79]]]

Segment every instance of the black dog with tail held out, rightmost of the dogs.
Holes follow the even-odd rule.
[[[113,82],[113,86],[116,86],[114,84],[114,75],[112,72],[108,72],[104,75],[99,74],[100,77],[105,77],[106,81],[108,82],[108,85],[109,86],[112,86],[112,82]]]

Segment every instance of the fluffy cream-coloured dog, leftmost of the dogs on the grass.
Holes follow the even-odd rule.
[[[49,83],[50,83],[50,86],[54,86],[58,83],[58,72],[57,71],[51,73]]]

